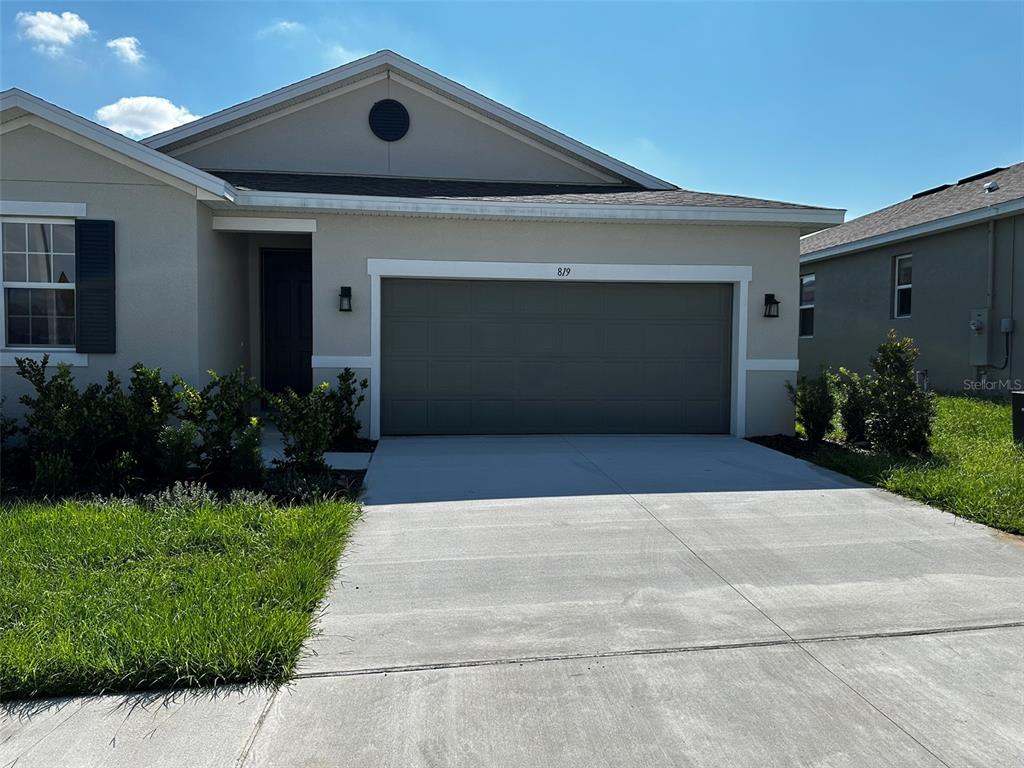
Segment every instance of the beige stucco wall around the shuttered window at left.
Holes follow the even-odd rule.
[[[76,368],[85,383],[136,361],[195,378],[200,371],[197,202],[191,195],[29,126],[3,137],[0,198],[85,203],[87,216],[116,222],[117,353]],[[45,179],[45,180],[44,180]],[[2,340],[0,340],[2,341]],[[0,369],[13,406],[15,369]]]

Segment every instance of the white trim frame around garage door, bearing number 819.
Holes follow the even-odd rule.
[[[443,280],[543,280],[611,283],[731,283],[732,402],[731,428],[746,435],[746,317],[753,278],[750,266],[714,264],[575,264],[520,261],[428,261],[368,259],[370,274],[370,437],[381,430],[381,279],[436,278]]]

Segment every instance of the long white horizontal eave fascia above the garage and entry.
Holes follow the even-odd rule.
[[[823,208],[649,206],[579,203],[509,203],[311,193],[239,191],[239,208],[314,210],[392,216],[557,221],[706,222],[820,229],[842,223],[844,212]]]

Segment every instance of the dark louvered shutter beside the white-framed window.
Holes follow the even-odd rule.
[[[114,222],[75,222],[75,348],[114,352]]]

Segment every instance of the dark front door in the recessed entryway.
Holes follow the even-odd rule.
[[[263,387],[281,392],[312,388],[312,254],[262,251]]]

